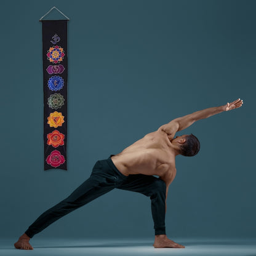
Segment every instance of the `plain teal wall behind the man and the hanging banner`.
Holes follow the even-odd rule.
[[[43,170],[39,18],[68,17],[68,171]],[[1,236],[20,236],[89,177],[95,161],[170,120],[242,98],[179,134],[167,234],[249,237],[255,206],[255,1],[1,1]],[[57,16],[56,16],[57,17]],[[38,234],[153,236],[150,200],[114,190]]]

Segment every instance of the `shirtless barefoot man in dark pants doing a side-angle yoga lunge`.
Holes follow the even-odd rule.
[[[135,191],[150,196],[151,212],[154,221],[155,248],[184,248],[166,236],[165,214],[166,198],[170,183],[175,178],[175,156],[194,156],[198,153],[200,143],[194,135],[182,135],[174,138],[175,133],[194,122],[209,118],[223,111],[242,106],[238,99],[223,106],[207,108],[176,118],[159,127],[155,132],[128,146],[121,153],[97,161],[90,177],[82,183],[68,198],[59,202],[40,215],[28,230],[20,236],[14,246],[17,249],[33,250],[29,243],[34,234],[44,230],[58,218],[84,206],[114,188]],[[159,178],[153,175],[158,175]]]

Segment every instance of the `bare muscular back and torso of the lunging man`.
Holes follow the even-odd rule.
[[[124,174],[158,175],[174,174],[175,154],[166,133],[151,132],[121,153],[111,157],[114,165]]]

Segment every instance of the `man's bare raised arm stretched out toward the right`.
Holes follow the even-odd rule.
[[[159,127],[158,130],[163,130],[169,135],[170,138],[173,138],[175,132],[186,129],[194,122],[200,119],[209,118],[210,116],[214,116],[214,114],[218,114],[223,111],[234,110],[235,108],[239,108],[240,106],[242,106],[242,103],[242,100],[238,98],[238,100],[234,100],[234,102],[231,103],[226,103],[226,105],[223,106],[214,106],[213,108],[199,110],[192,114],[182,116],[181,118],[176,118],[170,121],[168,124],[164,124],[163,126]]]

